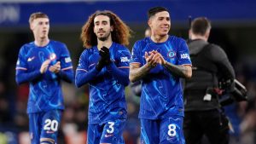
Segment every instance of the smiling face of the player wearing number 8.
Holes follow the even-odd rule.
[[[148,20],[148,25],[155,35],[165,36],[171,28],[170,14],[166,11],[156,13]]]

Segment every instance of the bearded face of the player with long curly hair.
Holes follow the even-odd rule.
[[[94,19],[94,33],[101,41],[105,41],[113,31],[113,26],[110,26],[109,17],[106,15],[98,15]]]

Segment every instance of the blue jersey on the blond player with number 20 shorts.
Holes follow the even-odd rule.
[[[51,60],[49,66],[60,61],[61,71],[55,74],[47,70],[41,74],[44,60]],[[61,79],[73,81],[73,66],[64,43],[49,41],[46,46],[38,47],[32,42],[21,47],[16,64],[16,82],[29,82],[28,113],[64,109]]]

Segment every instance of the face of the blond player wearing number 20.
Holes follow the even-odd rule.
[[[32,21],[30,28],[35,37],[45,38],[49,33],[49,19],[38,18]]]

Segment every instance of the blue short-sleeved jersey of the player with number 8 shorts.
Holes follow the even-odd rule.
[[[191,65],[189,49],[182,38],[169,36],[164,43],[154,43],[149,37],[137,41],[132,49],[131,63],[146,64],[145,52],[157,50],[174,65]],[[181,78],[158,64],[143,78],[139,118],[159,119],[171,115],[183,116]]]

